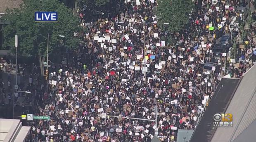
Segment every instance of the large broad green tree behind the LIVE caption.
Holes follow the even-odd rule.
[[[55,11],[58,12],[57,22],[35,22],[34,12]],[[47,34],[64,35],[64,38],[50,36],[49,52],[57,50],[59,45],[67,48],[78,47],[79,40],[74,38],[74,32],[81,30],[78,17],[73,16],[71,9],[58,0],[24,0],[19,9],[7,9],[5,20],[10,24],[3,29],[4,47],[15,51],[14,35],[18,35],[18,54],[20,56],[37,57],[40,62],[41,74],[43,74],[42,56],[46,56]],[[61,42],[64,41],[64,42]]]

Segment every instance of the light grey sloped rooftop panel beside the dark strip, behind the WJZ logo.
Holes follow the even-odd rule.
[[[218,127],[211,142],[255,142],[256,135],[247,135],[256,131],[256,65],[242,77],[234,97],[225,113],[233,115],[233,127]],[[237,140],[236,140],[237,139]],[[252,140],[252,141],[251,141]]]

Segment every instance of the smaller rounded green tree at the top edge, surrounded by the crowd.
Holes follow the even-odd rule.
[[[189,14],[194,8],[192,0],[159,0],[156,7],[158,25],[162,30],[171,32],[183,29],[189,20]],[[168,23],[168,24],[166,24]]]

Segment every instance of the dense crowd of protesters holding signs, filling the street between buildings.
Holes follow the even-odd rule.
[[[178,33],[158,28],[156,0],[125,0],[123,13],[92,24],[79,11],[81,26],[88,28],[87,33],[74,33],[83,41],[80,49],[72,59],[52,64],[47,91],[36,79],[27,88],[38,89],[34,115],[50,120],[34,119],[26,141],[100,142],[107,134],[109,142],[150,142],[154,121],[111,116],[154,120],[155,106],[159,140],[173,142],[178,129],[193,130],[223,75],[239,78],[256,56],[255,31],[247,29],[245,46],[239,47],[239,40],[232,44],[238,49],[235,62],[230,58],[225,68],[224,55],[216,60],[212,49],[218,38],[242,34],[228,25],[233,16],[239,17],[236,7],[245,4],[228,1],[195,2],[188,26]],[[206,62],[216,66],[206,71]],[[109,116],[101,117],[103,113]]]

